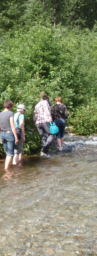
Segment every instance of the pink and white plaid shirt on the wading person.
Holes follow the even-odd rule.
[[[51,118],[51,110],[47,100],[40,100],[37,103],[34,110],[34,122],[35,124],[40,124],[43,122],[50,122]]]

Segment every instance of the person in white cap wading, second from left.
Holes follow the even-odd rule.
[[[23,159],[23,143],[25,142],[25,129],[24,129],[24,112],[26,111],[23,104],[17,106],[17,113],[14,114],[14,125],[15,128],[20,130],[18,148],[14,149],[13,164],[17,164]]]

